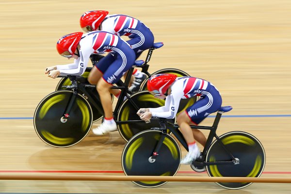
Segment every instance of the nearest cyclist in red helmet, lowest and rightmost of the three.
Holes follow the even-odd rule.
[[[191,164],[200,157],[200,149],[206,144],[205,135],[198,129],[191,129],[190,124],[198,125],[210,113],[216,112],[222,104],[218,90],[208,81],[194,77],[179,77],[173,74],[153,75],[147,81],[148,91],[158,98],[166,98],[165,105],[159,108],[142,108],[137,114],[148,121],[152,116],[175,118],[182,98],[200,97],[192,106],[179,113],[177,122],[188,144],[189,152],[181,164]],[[196,140],[196,141],[195,141]]]

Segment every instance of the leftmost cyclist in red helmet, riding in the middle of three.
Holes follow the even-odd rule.
[[[113,95],[118,95],[119,90],[111,90],[111,86],[120,80],[135,61],[135,53],[130,45],[119,36],[109,32],[93,31],[85,34],[75,32],[61,37],[57,42],[57,50],[60,55],[75,60],[72,64],[48,67],[46,73],[51,78],[56,78],[59,75],[81,76],[85,72],[90,55],[93,52],[109,52],[108,55],[112,57],[109,58],[110,60],[102,61],[102,70],[95,68],[96,70],[89,74],[91,79],[88,79],[88,81],[92,83],[92,79],[94,79],[98,93],[102,94],[100,100],[105,118],[98,128],[93,129],[93,132],[96,135],[103,135],[109,131],[117,130],[113,119],[110,92]],[[110,53],[112,51],[114,51],[114,56]]]

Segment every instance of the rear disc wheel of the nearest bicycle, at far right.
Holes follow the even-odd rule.
[[[265,167],[265,150],[259,140],[243,131],[227,132],[219,137],[227,150],[238,158],[239,164],[207,165],[210,177],[259,177]],[[231,161],[230,156],[216,139],[206,155],[207,162]],[[226,189],[241,189],[252,183],[216,182]]]

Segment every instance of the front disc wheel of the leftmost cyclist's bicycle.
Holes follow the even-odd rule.
[[[75,99],[69,118],[61,122],[73,92],[60,90],[43,98],[33,116],[34,129],[38,137],[53,147],[69,147],[78,144],[92,127],[92,109],[80,94]]]

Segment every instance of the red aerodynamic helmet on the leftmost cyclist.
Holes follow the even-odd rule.
[[[58,53],[64,57],[72,57],[81,40],[83,32],[74,32],[66,34],[57,42]]]

